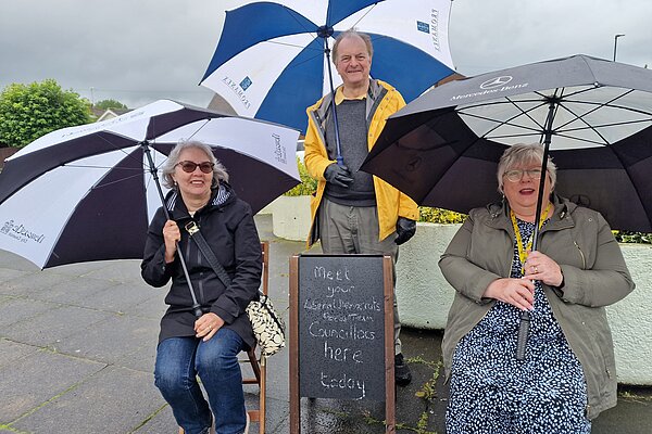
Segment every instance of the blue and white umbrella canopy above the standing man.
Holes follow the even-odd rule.
[[[227,11],[201,85],[240,115],[305,131],[305,108],[330,91],[325,41],[333,47],[333,37],[355,27],[372,37],[371,75],[412,101],[453,73],[450,8],[451,0],[249,3]]]

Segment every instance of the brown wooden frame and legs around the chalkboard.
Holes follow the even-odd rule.
[[[290,434],[301,434],[301,370],[299,347],[299,261],[301,256],[379,256],[379,255],[294,255],[290,258]],[[354,259],[353,259],[354,260]],[[390,256],[383,256],[385,318],[385,433],[396,433],[393,278]]]

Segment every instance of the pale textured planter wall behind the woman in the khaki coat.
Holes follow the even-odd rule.
[[[460,225],[418,224],[416,235],[401,246],[397,299],[404,326],[444,329],[454,290],[437,261]],[[652,246],[620,244],[637,284],[625,299],[607,306],[619,383],[652,385]]]

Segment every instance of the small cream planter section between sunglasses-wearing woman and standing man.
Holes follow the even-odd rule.
[[[272,231],[278,238],[305,241],[310,231],[312,196],[279,196],[273,202]]]

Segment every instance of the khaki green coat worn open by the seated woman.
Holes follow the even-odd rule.
[[[594,419],[616,405],[616,366],[604,306],[629,294],[635,284],[618,243],[597,212],[554,196],[554,215],[542,228],[539,251],[562,268],[562,290],[543,285],[587,382],[586,416]],[[496,304],[482,298],[493,280],[510,276],[514,229],[506,201],[469,213],[439,260],[446,279],[456,290],[442,342],[447,379],[453,353]]]

